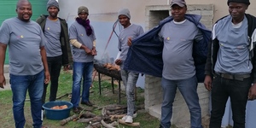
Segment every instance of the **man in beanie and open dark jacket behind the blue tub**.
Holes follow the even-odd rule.
[[[63,66],[64,71],[68,70],[72,54],[68,38],[67,22],[57,17],[60,11],[59,3],[55,0],[49,0],[47,10],[49,15],[41,15],[37,22],[41,26],[47,40],[45,49],[51,78],[49,102],[52,102],[56,99],[61,66]],[[48,84],[44,84],[43,104],[45,102],[47,86]]]

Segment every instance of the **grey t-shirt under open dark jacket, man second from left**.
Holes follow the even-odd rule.
[[[46,19],[44,26],[44,36],[47,40],[45,44],[47,57],[55,57],[62,55],[61,50],[61,22],[57,20]]]

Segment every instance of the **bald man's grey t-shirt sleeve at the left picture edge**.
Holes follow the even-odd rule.
[[[10,28],[5,21],[3,21],[3,24],[0,27],[0,33],[0,43],[9,44]]]

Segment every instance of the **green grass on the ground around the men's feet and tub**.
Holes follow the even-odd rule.
[[[96,79],[95,79],[96,80]],[[65,94],[70,94],[72,92],[72,73],[66,73],[61,72],[61,76],[59,78],[59,89],[57,93],[57,97],[63,96]],[[98,82],[93,82],[93,88],[90,90],[90,101],[93,102],[96,106],[96,108],[101,108],[106,105],[111,104],[118,104],[119,103],[119,96],[118,96],[118,85],[114,85],[115,93],[112,93],[112,87],[109,80],[102,81],[102,95],[99,94],[99,88],[98,88]],[[143,97],[143,91],[140,88],[137,88],[137,106],[143,106],[144,103],[144,97]],[[29,96],[26,96],[27,99],[29,99]],[[47,96],[46,99],[49,99],[49,87],[47,90]],[[67,101],[70,102],[70,99],[68,96],[64,96],[61,99],[58,99],[58,101]],[[121,94],[121,105],[126,104],[126,97],[125,93],[122,92]],[[81,105],[84,108],[89,108],[87,106]],[[12,92],[11,90],[3,90],[0,91],[0,123],[1,128],[14,128],[15,122],[13,119],[13,113],[12,113]],[[92,113],[101,114],[101,110],[96,110],[96,108],[93,109]],[[30,102],[25,102],[25,116],[26,116],[26,125],[25,128],[32,128],[32,116],[30,112]],[[134,122],[140,122],[140,125],[142,128],[158,128],[160,121],[148,113],[146,113],[144,110],[140,110],[137,112],[137,118],[134,119]],[[73,111],[71,111],[70,115],[73,115]],[[76,121],[70,121],[67,123],[67,125],[61,126],[60,120],[50,120],[44,118],[43,125],[48,126],[50,128],[84,128],[88,124],[79,123]],[[119,128],[130,128],[126,125],[119,125]]]

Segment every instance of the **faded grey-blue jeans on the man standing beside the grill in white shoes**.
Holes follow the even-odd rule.
[[[126,97],[127,97],[127,115],[131,116],[136,111],[134,89],[136,87],[138,73],[121,70],[122,81],[125,85]]]

